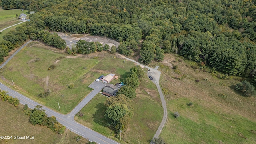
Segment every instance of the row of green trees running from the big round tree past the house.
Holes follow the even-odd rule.
[[[104,105],[105,119],[108,125],[114,126],[116,133],[119,136],[120,130],[125,130],[133,116],[133,109],[130,102],[136,97],[136,88],[140,84],[140,80],[144,76],[144,71],[137,65],[130,69],[130,72],[125,79],[125,86],[118,90],[116,96],[112,96],[106,100]]]

